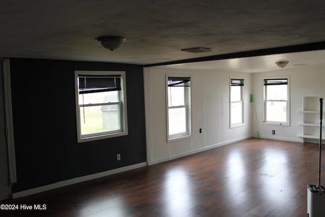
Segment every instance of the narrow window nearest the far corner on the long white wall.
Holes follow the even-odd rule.
[[[230,128],[243,126],[244,79],[230,79]]]

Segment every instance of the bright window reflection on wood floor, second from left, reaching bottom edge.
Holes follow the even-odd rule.
[[[170,216],[189,216],[193,206],[189,175],[183,168],[168,171],[165,180],[165,200],[167,214]]]

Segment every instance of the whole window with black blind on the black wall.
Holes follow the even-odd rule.
[[[127,135],[125,72],[75,71],[78,142]]]

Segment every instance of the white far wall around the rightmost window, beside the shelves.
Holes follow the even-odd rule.
[[[278,76],[289,76],[290,79],[290,126],[273,126],[263,123],[263,78]],[[304,66],[293,69],[279,69],[274,72],[255,73],[252,75],[253,96],[255,99],[256,114],[258,120],[259,134],[261,138],[279,139],[287,141],[302,142],[298,134],[302,134],[303,114],[297,113],[303,108],[303,96],[325,96],[325,65]],[[275,135],[272,135],[275,130]],[[255,124],[253,134],[256,136]]]

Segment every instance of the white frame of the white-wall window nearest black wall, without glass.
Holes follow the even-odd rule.
[[[185,105],[180,106],[169,106],[168,105],[168,77],[189,77],[190,87],[184,90],[184,103]],[[177,141],[181,139],[191,138],[191,87],[192,87],[192,76],[190,74],[166,74],[165,86],[166,86],[166,119],[167,119],[167,142]],[[169,135],[169,109],[173,108],[185,108],[186,109],[186,132],[179,134]]]

